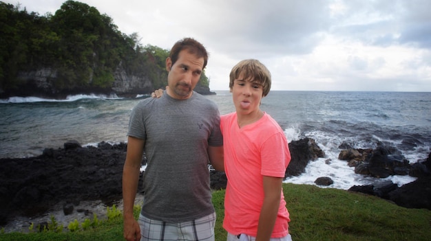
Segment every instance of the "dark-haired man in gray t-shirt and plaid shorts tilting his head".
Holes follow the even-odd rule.
[[[133,109],[123,170],[126,240],[214,240],[215,210],[209,170],[223,170],[217,105],[193,91],[207,66],[206,49],[193,38],[172,47],[166,59],[168,87]],[[133,216],[143,153],[144,200]]]

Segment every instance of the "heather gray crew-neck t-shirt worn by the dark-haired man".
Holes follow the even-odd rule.
[[[187,100],[165,92],[133,109],[127,135],[145,139],[141,213],[165,222],[212,214],[208,146],[222,146],[217,105],[193,91]]]

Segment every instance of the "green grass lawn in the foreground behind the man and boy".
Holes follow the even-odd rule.
[[[291,214],[289,232],[293,241],[430,240],[431,210],[407,209],[375,196],[344,190],[291,183],[283,185],[286,206]],[[213,192],[217,212],[216,241],[224,241],[227,236],[222,228],[223,200],[224,190]],[[87,231],[0,233],[0,240],[123,240],[123,221],[121,217],[101,220],[99,225]]]

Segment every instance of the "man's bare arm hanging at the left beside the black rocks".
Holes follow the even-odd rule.
[[[123,168],[123,236],[127,241],[140,240],[140,227],[133,216],[133,208],[138,190],[144,145],[145,140],[143,139],[127,138],[127,154]]]

